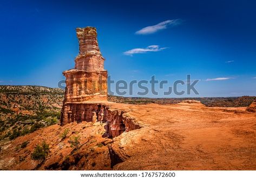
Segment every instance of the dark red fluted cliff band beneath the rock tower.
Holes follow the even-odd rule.
[[[66,103],[62,124],[70,122],[101,122],[106,125],[103,137],[116,137],[122,132],[140,129],[140,125],[134,122],[132,117],[127,116],[123,110],[111,109],[99,103]]]

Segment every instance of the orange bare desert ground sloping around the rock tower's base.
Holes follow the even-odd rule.
[[[99,103],[99,102],[90,102]],[[102,102],[101,102],[102,103]],[[200,102],[122,104],[140,129],[104,137],[104,123],[58,124],[2,142],[0,169],[11,170],[255,170],[256,114],[245,107],[206,107]],[[61,138],[68,129],[68,135]],[[80,136],[80,146],[69,138]],[[31,160],[36,144],[45,141],[50,153]],[[22,143],[28,142],[21,148]]]

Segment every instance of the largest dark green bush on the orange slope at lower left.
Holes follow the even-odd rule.
[[[49,154],[49,144],[43,141],[41,144],[37,144],[33,153],[31,154],[32,160],[42,161],[45,160]]]

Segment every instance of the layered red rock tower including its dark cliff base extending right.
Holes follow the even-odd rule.
[[[134,119],[119,109],[110,109],[107,102],[107,71],[97,42],[95,28],[77,28],[79,55],[75,68],[63,72],[66,77],[61,125],[71,122],[105,123],[104,137],[116,137],[122,132],[140,129]]]

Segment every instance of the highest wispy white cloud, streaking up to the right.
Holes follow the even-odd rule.
[[[168,26],[176,26],[181,24],[181,19],[173,19],[173,20],[167,20],[160,22],[159,24],[152,25],[152,26],[146,26],[145,28],[136,31],[135,34],[139,35],[146,35],[146,34],[153,34],[159,30],[167,29]]]

